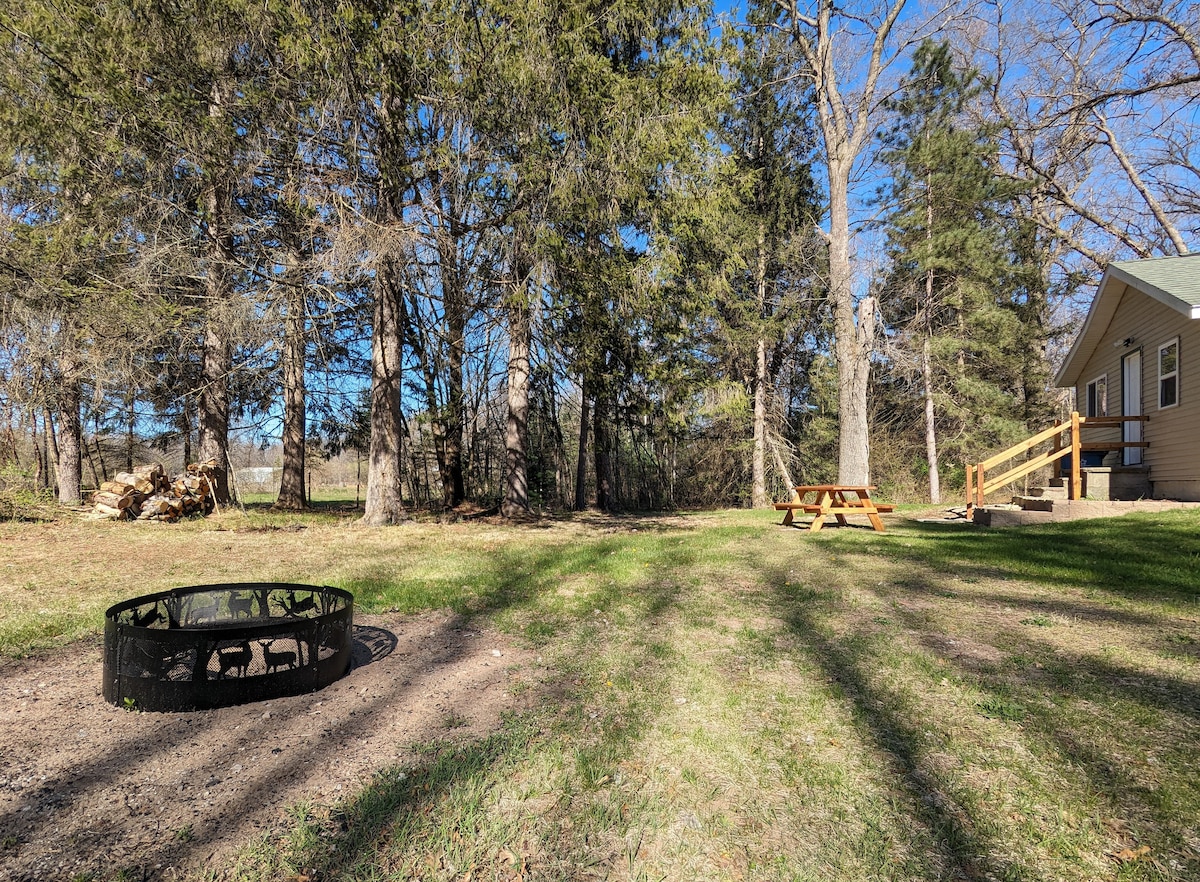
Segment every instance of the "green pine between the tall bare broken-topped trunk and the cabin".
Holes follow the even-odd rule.
[[[884,140],[892,168],[886,316],[918,379],[932,502],[940,457],[1012,437],[1020,421],[1022,337],[1014,308],[1014,193],[995,174],[992,132],[966,122],[979,94],[974,71],[955,68],[949,46],[926,40],[889,101],[898,121]]]

